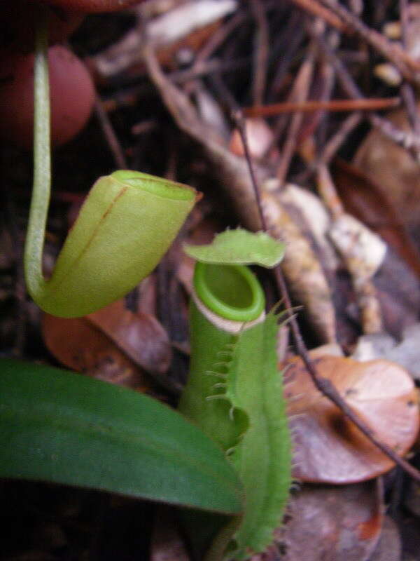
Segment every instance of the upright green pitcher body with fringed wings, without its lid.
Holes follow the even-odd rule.
[[[203,287],[198,286],[190,307],[190,376],[179,404],[186,417],[221,445],[244,484],[244,518],[225,555],[247,559],[272,541],[274,529],[281,524],[291,481],[290,435],[276,356],[278,318],[269,313],[258,321],[252,304],[260,298],[261,288],[258,285],[255,289],[250,282],[248,291],[244,290],[248,276],[239,272],[244,267],[196,267],[200,271],[195,275],[196,289],[207,283],[207,290],[214,290],[215,301],[224,299],[232,306],[234,299],[238,311],[253,309],[248,316],[252,323],[239,323],[239,330],[229,331],[235,330],[232,318],[219,313],[217,302],[208,300],[204,306],[200,299]],[[207,274],[203,267],[209,268]],[[230,294],[223,289],[224,273]],[[219,278],[207,282],[211,276]],[[216,540],[217,551],[227,541],[226,534]],[[206,557],[216,558],[216,550],[210,550]]]

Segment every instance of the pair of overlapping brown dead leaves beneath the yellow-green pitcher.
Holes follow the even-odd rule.
[[[43,337],[57,360],[76,372],[142,391],[151,388],[144,372],[165,384],[172,360],[167,332],[155,316],[133,313],[123,300],[85,318],[44,314]]]

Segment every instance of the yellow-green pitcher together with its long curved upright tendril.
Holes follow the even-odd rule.
[[[127,294],[169,248],[199,195],[186,185],[119,170],[100,177],[66,238],[51,278],[42,271],[50,199],[48,29],[36,34],[34,188],[25,243],[25,278],[36,304],[55,316],[85,316]]]

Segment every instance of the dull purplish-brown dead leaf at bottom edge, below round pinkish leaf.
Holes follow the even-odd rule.
[[[307,485],[288,506],[277,532],[282,561],[365,561],[379,540],[383,503],[377,481]]]

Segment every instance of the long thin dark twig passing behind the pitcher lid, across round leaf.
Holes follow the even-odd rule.
[[[252,165],[251,157],[249,155],[249,150],[246,148],[247,138],[246,138],[246,130],[244,127],[243,116],[241,115],[240,110],[238,111],[238,109],[232,111],[232,116],[235,119],[239,132],[241,133],[242,142],[244,144],[245,157],[251,175],[253,189],[255,192],[255,199],[258,205],[258,212],[260,213],[261,224],[263,225],[265,231],[267,231],[267,224],[265,221],[264,212],[262,211],[262,205],[260,202],[260,189],[258,187],[258,183],[255,180],[255,174],[253,173],[253,165]],[[299,326],[297,325],[297,320],[295,314],[293,313],[292,302],[290,301],[290,296],[288,294],[288,289],[286,287],[286,281],[284,280],[283,273],[281,272],[280,266],[276,266],[276,268],[274,269],[274,273],[276,276],[277,284],[279,286],[279,290],[281,292],[281,297],[283,299],[284,305],[286,306],[286,313],[288,315],[288,320],[290,322],[289,325],[293,334],[293,339],[295,340],[297,353],[299,354],[300,358],[302,358],[302,361],[305,367],[307,368],[307,371],[309,372],[311,379],[315,384],[316,388],[323,394],[323,396],[327,397],[330,401],[332,401],[334,405],[337,405],[337,407],[339,407],[339,410],[341,410],[342,413],[346,417],[348,417],[351,420],[351,422],[353,422],[353,424],[355,424],[357,428],[366,436],[366,438],[368,438],[370,442],[372,442],[375,446],[379,448],[379,450],[381,450],[381,452],[384,452],[384,454],[389,458],[391,458],[391,460],[395,462],[395,464],[398,464],[398,466],[400,466],[407,473],[409,473],[409,475],[411,475],[414,480],[420,482],[420,471],[416,470],[416,468],[414,468],[414,466],[409,464],[409,462],[405,461],[405,459],[400,458],[398,454],[396,454],[395,451],[390,446],[388,446],[387,444],[382,442],[379,438],[377,438],[377,435],[374,433],[374,431],[372,431],[372,429],[369,426],[367,426],[367,424],[365,424],[364,421],[360,419],[358,414],[353,411],[352,407],[349,406],[346,400],[344,400],[344,398],[340,396],[339,392],[337,391],[335,386],[331,383],[331,381],[327,378],[322,377],[318,373],[314,363],[312,362],[311,358],[309,358],[307,346],[304,344],[302,334],[300,333]]]

